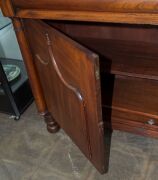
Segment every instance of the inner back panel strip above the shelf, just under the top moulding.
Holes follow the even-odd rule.
[[[46,22],[73,38],[141,41],[145,43],[157,43],[158,41],[157,26],[52,20]]]

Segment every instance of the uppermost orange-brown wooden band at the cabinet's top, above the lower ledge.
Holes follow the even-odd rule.
[[[69,11],[158,12],[158,0],[13,0],[16,8]]]

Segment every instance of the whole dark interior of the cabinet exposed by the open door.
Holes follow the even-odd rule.
[[[134,123],[154,119],[158,124],[156,27],[46,22],[99,55],[103,115],[113,129],[127,121],[128,125],[139,126]]]

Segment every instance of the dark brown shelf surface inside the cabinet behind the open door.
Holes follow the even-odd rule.
[[[81,38],[100,55],[101,71],[158,80],[158,51],[153,43]]]

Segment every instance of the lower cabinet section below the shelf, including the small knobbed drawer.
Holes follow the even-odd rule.
[[[112,108],[111,119],[105,113],[112,128],[158,137],[158,81],[127,76],[103,81],[103,107]]]

